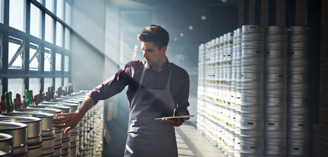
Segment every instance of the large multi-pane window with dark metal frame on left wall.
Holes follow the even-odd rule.
[[[71,6],[71,0],[0,0],[1,94],[68,85]]]

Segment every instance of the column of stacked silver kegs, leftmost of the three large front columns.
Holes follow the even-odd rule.
[[[242,26],[240,155],[262,156],[264,27]]]

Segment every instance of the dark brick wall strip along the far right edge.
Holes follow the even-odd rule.
[[[319,124],[312,126],[314,157],[328,156],[328,0],[321,0]]]

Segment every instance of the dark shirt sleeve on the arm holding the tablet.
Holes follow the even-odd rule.
[[[187,113],[187,115],[189,114],[189,111],[187,110],[187,107],[189,106],[189,75],[188,73],[185,71],[185,75],[184,75],[184,83],[181,85],[179,92],[176,96],[176,100],[177,100],[177,108],[174,110],[174,115],[176,115],[179,112],[185,112]],[[186,120],[188,120],[189,118],[187,118]]]

